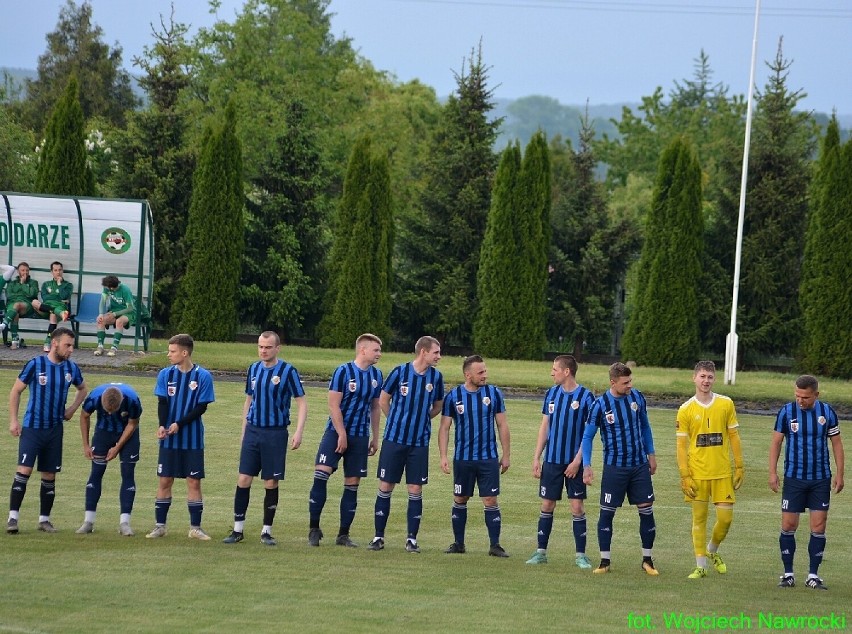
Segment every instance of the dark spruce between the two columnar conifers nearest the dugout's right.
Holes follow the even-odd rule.
[[[305,107],[287,106],[286,129],[251,179],[240,316],[286,337],[312,337],[325,290],[328,174]]]

